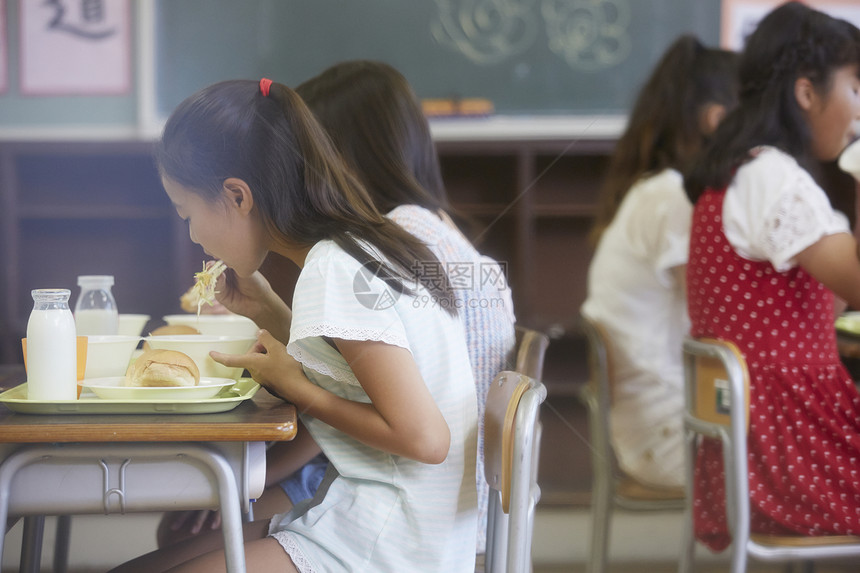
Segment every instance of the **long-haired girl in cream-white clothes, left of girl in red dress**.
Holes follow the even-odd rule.
[[[734,54],[677,39],[638,96],[601,195],[582,312],[610,338],[619,465],[652,487],[684,483],[680,348],[692,206],[679,171],[736,97]]]

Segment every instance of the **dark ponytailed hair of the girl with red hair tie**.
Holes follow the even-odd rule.
[[[242,179],[276,238],[302,246],[330,239],[397,292],[413,293],[417,280],[456,314],[436,256],[376,210],[287,86],[273,83],[268,96],[249,80],[200,90],[167,120],[155,160],[163,177],[209,201],[225,179]]]

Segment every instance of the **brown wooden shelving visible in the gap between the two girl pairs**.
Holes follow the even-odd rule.
[[[478,248],[507,265],[517,320],[548,333],[546,383],[570,394],[585,376],[577,327],[592,249],[588,233],[612,139],[439,142],[455,208]]]

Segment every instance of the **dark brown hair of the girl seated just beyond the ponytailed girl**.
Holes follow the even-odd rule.
[[[400,72],[382,62],[342,62],[296,92],[379,211],[406,204],[450,210],[430,126]]]

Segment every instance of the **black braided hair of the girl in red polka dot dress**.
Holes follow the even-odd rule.
[[[686,174],[690,200],[695,202],[706,189],[728,185],[760,145],[788,153],[815,173],[811,135],[795,97],[795,82],[806,77],[826,94],[833,72],[855,63],[860,63],[860,31],[852,24],[799,2],[787,2],[767,14],[741,56],[740,104]]]

